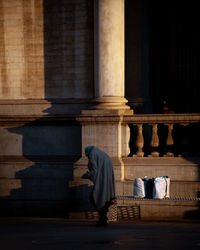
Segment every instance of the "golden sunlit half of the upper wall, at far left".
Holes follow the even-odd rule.
[[[43,98],[42,0],[0,2],[0,44],[0,98]]]

